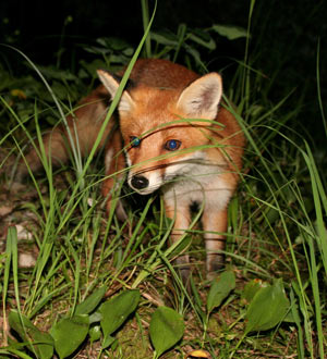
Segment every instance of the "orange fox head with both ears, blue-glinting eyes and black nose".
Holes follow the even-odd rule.
[[[106,71],[98,75],[111,97],[119,82]],[[128,183],[147,195],[180,176],[191,176],[206,161],[217,117],[222,82],[217,73],[189,86],[171,88],[136,84],[124,90],[118,107],[120,131],[130,166]],[[217,127],[217,126],[216,126]]]

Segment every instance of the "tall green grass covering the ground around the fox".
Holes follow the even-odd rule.
[[[252,9],[253,5],[254,2]],[[144,3],[145,27],[149,28],[147,17]],[[146,44],[147,53],[153,53],[150,42]],[[142,45],[138,52],[141,48]],[[174,51],[181,48],[181,41],[177,41],[175,48],[157,50],[175,58]],[[104,61],[110,64],[110,57]],[[39,73],[32,62],[29,65]],[[198,66],[202,69],[203,63]],[[317,75],[318,70],[317,63]],[[80,81],[73,75],[64,78],[70,78],[65,82],[70,88]],[[270,104],[265,95],[254,98],[252,89],[259,78],[261,73],[246,61],[231,82],[242,84],[235,86],[240,92],[227,91],[239,106],[235,115],[247,139],[242,180],[229,208],[225,273],[234,278],[228,282],[235,282],[231,288],[227,284],[220,288],[219,282],[205,280],[199,212],[194,214],[183,243],[175,247],[166,246],[172,223],[165,218],[158,194],[144,199],[140,207],[140,199],[121,188],[117,196],[128,203],[128,220],[120,223],[113,209],[107,216],[99,191],[104,180],[100,158],[94,152],[83,162],[76,149],[74,171],[70,164],[55,171],[41,150],[46,175],[34,177],[31,173],[26,187],[9,196],[13,157],[23,151],[22,133],[39,140],[40,123],[64,119],[71,104],[62,102],[62,88],[50,85],[47,88],[52,100],[44,94],[40,100],[34,102],[32,96],[28,102],[13,91],[1,97],[1,117],[5,120],[0,139],[0,196],[4,203],[0,209],[8,210],[0,219],[4,228],[0,257],[2,357],[46,358],[39,344],[48,337],[36,337],[38,332],[27,320],[56,337],[53,329],[61,333],[63,320],[72,325],[68,320],[76,318],[76,312],[86,315],[89,323],[87,335],[74,349],[74,356],[81,358],[156,358],[160,345],[155,344],[156,334],[150,326],[158,326],[159,336],[164,336],[179,318],[184,325],[183,336],[164,350],[162,358],[184,358],[192,352],[196,358],[194,350],[213,358],[326,356],[326,183],[310,143],[292,127],[291,119],[301,112],[300,106],[289,110],[288,98],[276,104]],[[40,81],[33,84],[35,88],[41,86]],[[15,89],[14,84],[9,83],[5,89]],[[73,97],[78,95],[85,94]],[[324,120],[323,106],[320,109]],[[3,125],[5,121],[8,126]],[[21,238],[24,236],[15,225],[25,226],[32,239]],[[194,268],[191,296],[171,264],[185,248]],[[26,253],[34,262],[23,269],[20,258]],[[136,309],[106,336],[104,319],[97,317],[101,315],[99,308],[119,295],[136,293],[132,289],[138,289],[141,295]],[[226,293],[221,295],[222,292]],[[279,301],[274,301],[272,292]],[[117,311],[120,306],[130,308],[131,299],[124,300],[116,305]],[[279,311],[287,308],[282,317],[278,310],[275,313],[275,304]],[[168,324],[156,326],[154,313],[161,307],[172,308],[173,313],[167,314]],[[19,313],[16,321],[10,314],[12,309]],[[114,314],[108,315],[111,319]],[[8,319],[20,336],[9,331]]]

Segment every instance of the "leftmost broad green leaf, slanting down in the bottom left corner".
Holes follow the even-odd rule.
[[[12,310],[9,313],[9,325],[24,342],[32,342],[29,349],[37,358],[47,359],[53,356],[53,339],[50,334],[39,331],[26,317]],[[38,343],[38,344],[33,344]]]

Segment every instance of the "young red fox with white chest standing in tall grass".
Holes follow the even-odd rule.
[[[98,75],[102,85],[68,117],[82,154],[94,145],[119,87],[117,76],[102,70]],[[107,209],[126,165],[128,184],[136,193],[148,195],[160,188],[166,215],[174,220],[172,243],[190,226],[192,205],[199,205],[207,276],[213,277],[223,263],[227,208],[238,184],[244,147],[237,120],[220,106],[221,77],[218,73],[199,76],[170,61],[153,59],[136,61],[130,83],[121,96],[118,115],[108,122],[99,145],[107,144],[107,178],[102,185]],[[64,136],[66,131],[61,126],[44,137],[46,152],[51,153],[55,164],[68,159]],[[27,153],[26,160],[32,171],[40,168],[35,150]],[[20,165],[17,177],[26,173],[26,168]],[[124,218],[120,203],[117,212]],[[189,256],[175,262],[182,277],[187,278]]]

